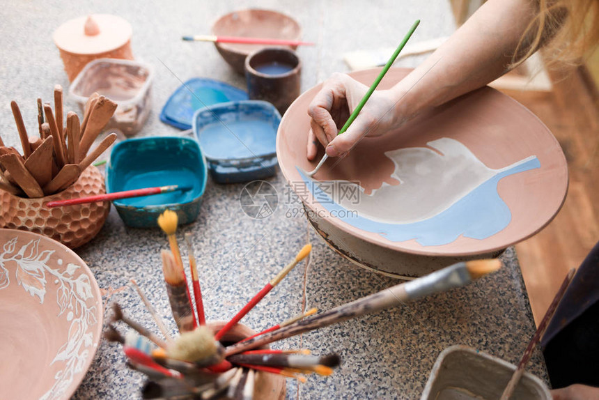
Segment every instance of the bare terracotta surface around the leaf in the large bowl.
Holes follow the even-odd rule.
[[[378,71],[365,70],[350,75],[364,84],[371,84]],[[391,68],[379,88],[388,89],[408,72]],[[277,135],[277,156],[281,171],[306,206],[352,236],[367,243],[412,254],[481,254],[504,249],[534,235],[561,208],[568,188],[568,171],[557,140],[536,116],[518,102],[485,87],[424,112],[404,125],[400,132],[362,139],[343,160],[327,160],[316,178],[321,181],[359,181],[367,193],[380,188],[383,183],[397,185],[398,182],[390,178],[394,172],[394,162],[384,153],[398,148],[426,147],[430,141],[440,138],[459,141],[492,169],[500,169],[534,155],[540,162],[540,168],[499,180],[497,192],[511,212],[511,221],[504,229],[482,240],[459,236],[448,244],[424,246],[416,240],[393,242],[378,233],[357,229],[339,218],[331,217],[327,209],[312,198],[309,190],[297,190],[303,180],[296,167],[311,171],[316,165],[316,162],[306,159],[306,140],[310,128],[306,110],[319,89],[320,86],[316,86],[302,94],[283,116]],[[316,160],[320,160],[320,157],[322,148]],[[400,207],[401,203],[398,201],[397,204],[381,206]]]

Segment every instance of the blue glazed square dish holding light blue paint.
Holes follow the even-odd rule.
[[[226,102],[196,111],[193,130],[217,183],[240,183],[277,173],[281,114],[270,102]]]

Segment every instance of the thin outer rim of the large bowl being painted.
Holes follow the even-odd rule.
[[[355,77],[356,74],[359,73],[364,73],[364,72],[379,72],[382,68],[368,68],[366,70],[356,70],[356,71],[352,71],[350,72],[348,75],[350,75],[350,77]],[[403,70],[407,73],[409,73],[410,71],[413,70],[413,68],[393,68],[393,70]],[[320,84],[316,84],[314,86],[312,86],[311,88],[307,89],[306,91],[304,91],[301,95],[299,95],[295,100],[293,100],[293,102],[291,103],[291,105],[289,106],[289,109],[291,109],[291,107],[293,107],[295,105],[296,102],[299,102],[300,100],[303,100],[302,98],[304,97],[304,95],[306,95],[306,93],[309,93],[310,91],[316,90],[317,88],[322,87],[322,83]],[[490,86],[483,86],[483,88],[487,88],[490,89],[492,91],[495,91],[497,93],[499,93],[500,95],[504,96],[504,98],[508,99],[509,101],[513,102],[513,104],[515,104],[516,106],[520,107],[521,109],[523,109],[524,111],[527,112],[527,114],[529,114],[532,118],[535,118],[536,121],[543,126],[543,128],[550,134],[550,136],[552,137],[552,140],[554,141],[554,144],[556,144],[559,148],[561,148],[561,146],[559,145],[559,142],[557,141],[556,137],[552,134],[551,130],[549,128],[547,128],[547,125],[545,125],[545,123],[543,123],[543,121],[540,121],[540,119],[538,118],[538,116],[536,116],[532,111],[530,111],[527,107],[524,107],[524,105],[520,104],[520,102],[514,100],[513,98],[511,98],[510,96],[501,93],[500,91],[498,91],[497,89],[493,89]],[[480,90],[480,89],[479,89]],[[467,95],[468,93],[466,93]],[[281,155],[283,154],[281,151],[281,134],[279,134],[281,132],[281,127],[283,127],[286,119],[291,118],[289,112],[286,112],[283,115],[283,118],[281,118],[281,123],[279,123],[279,130],[277,130],[277,158],[280,160],[281,159]],[[540,226],[538,226],[538,229],[536,229],[535,231],[532,231],[531,233],[529,233],[528,235],[525,236],[520,236],[516,239],[512,239],[509,241],[506,241],[505,243],[501,243],[501,245],[497,245],[495,247],[488,247],[485,249],[481,249],[481,250],[468,250],[468,251],[426,251],[426,250],[422,250],[422,249],[410,249],[410,248],[403,248],[396,245],[393,245],[392,243],[387,243],[384,240],[377,240],[373,237],[371,237],[370,235],[367,235],[365,233],[363,233],[363,231],[361,229],[357,229],[353,226],[350,226],[349,224],[347,224],[346,222],[343,222],[341,220],[339,220],[339,218],[336,217],[331,217],[329,218],[330,222],[336,226],[339,229],[342,229],[343,231],[348,231],[348,229],[346,229],[347,226],[350,226],[352,228],[352,235],[357,236],[358,238],[360,238],[361,240],[365,240],[368,243],[373,243],[375,245],[381,245],[383,247],[387,247],[389,249],[394,249],[397,252],[405,252],[405,253],[409,253],[409,254],[417,254],[417,255],[421,255],[421,256],[475,256],[476,254],[485,254],[488,252],[495,252],[495,251],[499,251],[501,249],[505,249],[506,247],[510,247],[515,245],[516,243],[520,243],[522,242],[522,240],[526,240],[528,238],[531,238],[531,236],[536,235],[536,233],[540,232],[541,230],[543,230],[548,224],[550,224],[550,222],[552,222],[552,220],[554,220],[555,216],[559,213],[559,210],[561,210],[563,203],[566,201],[566,195],[568,194],[568,187],[569,187],[569,183],[570,183],[570,178],[569,178],[569,174],[568,174],[568,164],[566,162],[566,156],[563,154],[563,151],[561,152],[561,157],[563,157],[563,164],[565,165],[566,168],[566,185],[564,187],[564,192],[563,192],[563,197],[561,199],[561,202],[559,204],[559,206],[556,208],[556,210],[554,211],[553,215],[550,218],[547,218],[547,220],[541,224]],[[291,182],[288,178],[288,169],[286,169],[286,167],[281,164],[281,162],[279,162],[279,169],[281,169],[281,172],[283,174],[283,176],[285,177],[285,180],[288,184],[290,184],[293,188],[293,182]],[[295,190],[294,190],[295,192]],[[327,215],[329,215],[329,212],[326,208],[324,208],[318,201],[316,201],[316,204],[314,202],[312,203],[305,203],[301,197],[300,200],[302,201],[302,204],[308,206],[308,208],[313,211],[313,212],[318,212],[319,210],[324,210],[325,213],[327,213]],[[398,242],[398,243],[402,243],[402,242]]]

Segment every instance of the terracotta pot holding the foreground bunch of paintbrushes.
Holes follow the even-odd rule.
[[[215,334],[226,325],[226,321],[214,321],[206,324]],[[241,323],[233,325],[221,339],[221,344],[227,346],[250,337],[257,332],[251,330],[247,325]],[[269,348],[262,346],[258,348]],[[281,400],[285,398],[286,380],[283,376],[256,371],[256,383],[254,384],[254,399]]]

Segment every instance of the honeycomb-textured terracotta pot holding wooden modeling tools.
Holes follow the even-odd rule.
[[[0,189],[0,228],[41,233],[74,249],[88,243],[104,225],[110,201],[47,208],[48,201],[104,194],[104,178],[88,167],[62,192],[38,199],[18,197]]]

